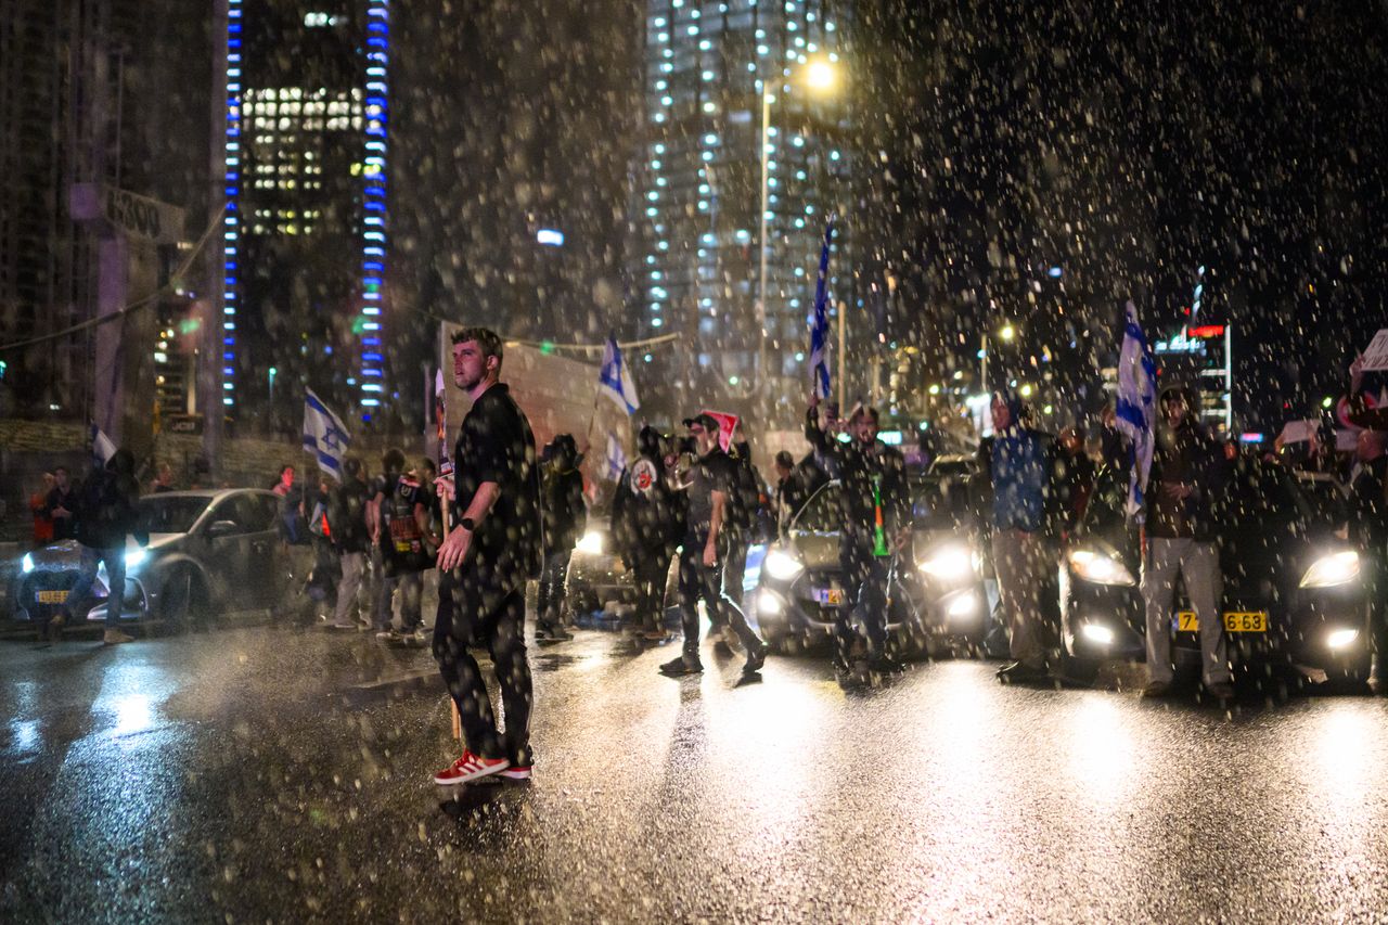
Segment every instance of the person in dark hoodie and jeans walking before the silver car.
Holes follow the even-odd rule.
[[[97,569],[105,564],[110,596],[103,642],[107,646],[135,642],[121,631],[121,604],[125,597],[126,538],[135,536],[140,546],[150,543],[150,535],[140,524],[136,508],[139,497],[140,483],[135,478],[135,454],[119,449],[105,467],[93,472],[82,486],[74,510],[74,529],[78,543],[82,544],[82,575],[68,599],[86,600],[96,582]]]

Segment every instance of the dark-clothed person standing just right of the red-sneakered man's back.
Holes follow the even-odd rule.
[[[544,476],[540,482],[540,508],[544,514],[544,571],[536,606],[536,640],[565,642],[573,635],[564,629],[564,582],[569,574],[569,554],[583,538],[589,508],[583,503],[583,474],[579,472],[579,447],[573,438],[561,433],[541,456]]]

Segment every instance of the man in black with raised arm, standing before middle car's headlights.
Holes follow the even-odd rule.
[[[838,471],[838,564],[843,568],[844,599],[838,607],[834,668],[849,672],[849,653],[856,633],[854,612],[867,628],[869,669],[899,671],[886,651],[887,574],[891,557],[911,538],[911,500],[906,493],[906,462],[894,447],[877,440],[877,410],[858,408],[848,421],[848,443],[831,440],[819,428],[819,399],[805,415],[805,439],[818,458]]]

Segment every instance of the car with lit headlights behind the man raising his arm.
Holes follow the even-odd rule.
[[[987,632],[983,560],[965,526],[967,499],[955,511],[926,476],[911,483],[913,529],[908,554],[892,560],[887,588],[890,643],[909,654],[941,640],[977,647]],[[838,565],[838,492],[829,482],[805,501],[766,551],[755,594],[756,621],[769,644],[793,650],[834,632],[844,600]]]

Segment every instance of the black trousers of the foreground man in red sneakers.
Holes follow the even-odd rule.
[[[486,646],[501,688],[507,729],[497,729],[491,696],[468,646]],[[530,750],[530,662],[525,650],[525,582],[486,588],[459,569],[439,574],[439,617],[433,654],[462,719],[468,751],[508,758],[514,767],[534,761]]]

